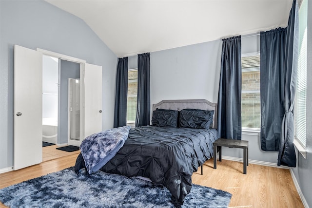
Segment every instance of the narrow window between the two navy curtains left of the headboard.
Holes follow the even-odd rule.
[[[137,69],[128,70],[127,124],[136,123]]]

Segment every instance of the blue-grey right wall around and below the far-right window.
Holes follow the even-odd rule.
[[[307,130],[305,159],[297,152],[297,167],[292,168],[308,206],[312,208],[312,1],[308,1],[308,51],[307,51]]]

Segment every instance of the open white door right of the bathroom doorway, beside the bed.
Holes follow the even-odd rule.
[[[102,131],[102,67],[84,64],[84,137]]]

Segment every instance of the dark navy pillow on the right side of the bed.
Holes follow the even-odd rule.
[[[183,109],[180,111],[179,126],[182,128],[211,129],[215,111]]]

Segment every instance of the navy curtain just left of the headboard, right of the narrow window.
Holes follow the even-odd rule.
[[[137,55],[136,127],[150,125],[150,53]]]

